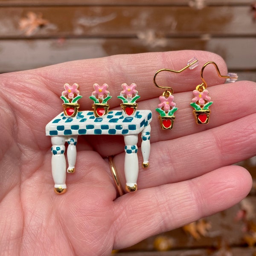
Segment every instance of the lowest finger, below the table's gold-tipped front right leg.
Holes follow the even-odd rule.
[[[114,248],[175,229],[227,209],[250,191],[250,174],[227,166],[193,180],[143,189],[115,201]]]

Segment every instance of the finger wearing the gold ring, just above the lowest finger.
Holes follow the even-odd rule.
[[[139,189],[174,183],[210,172],[256,154],[256,114],[197,134],[151,145],[150,166],[141,168]],[[139,157],[139,163],[142,163]],[[123,186],[124,153],[114,157]]]

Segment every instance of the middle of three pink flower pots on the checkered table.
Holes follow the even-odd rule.
[[[108,113],[108,100],[112,98],[108,89],[108,84],[93,84],[94,91],[89,98],[93,100],[93,113],[95,117],[105,116]],[[105,97],[106,96],[106,97]]]

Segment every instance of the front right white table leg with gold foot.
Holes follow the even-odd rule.
[[[125,137],[125,189],[128,192],[137,190],[139,174],[139,161],[137,156],[138,135],[126,135]]]

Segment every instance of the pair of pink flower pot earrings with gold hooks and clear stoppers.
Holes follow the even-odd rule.
[[[209,122],[209,115],[211,111],[209,110],[209,107],[212,105],[211,98],[208,96],[209,91],[207,90],[207,83],[203,77],[204,69],[207,67],[207,65],[213,64],[217,74],[220,78],[227,79],[228,82],[235,82],[238,78],[238,76],[235,73],[228,73],[227,76],[222,76],[220,73],[220,70],[217,66],[217,64],[213,61],[208,61],[204,64],[204,66],[201,69],[201,80],[202,83],[198,84],[195,87],[195,90],[193,90],[193,96],[192,102],[190,105],[193,110],[193,114],[195,116],[195,122],[198,125],[205,125]],[[180,73],[187,68],[190,70],[194,69],[198,66],[198,59],[192,58],[188,61],[186,67],[183,67],[181,70],[171,70],[171,69],[160,69],[158,70],[154,75],[154,84],[160,88],[165,89],[164,93],[159,97],[160,103],[158,104],[158,108],[156,108],[156,111],[160,114],[158,116],[158,119],[160,120],[160,126],[163,130],[170,130],[173,128],[173,123],[175,120],[174,113],[178,110],[176,107],[176,104],[174,102],[174,96],[173,96],[173,89],[171,87],[163,87],[159,86],[156,82],[157,74],[159,74],[162,71],[169,71],[174,73]]]

